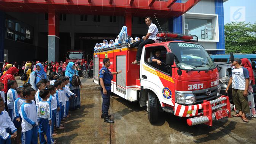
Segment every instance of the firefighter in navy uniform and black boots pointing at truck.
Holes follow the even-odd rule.
[[[103,59],[104,66],[100,69],[100,85],[102,89],[100,90],[103,102],[102,102],[102,114],[101,118],[104,118],[104,122],[114,123],[114,120],[110,119],[108,115],[108,109],[110,105],[110,92],[111,92],[111,80],[113,79],[114,74],[119,74],[119,72],[110,72],[108,67],[110,66],[110,60],[108,58]]]

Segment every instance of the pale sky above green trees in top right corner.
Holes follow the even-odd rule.
[[[256,22],[256,0],[228,0],[223,6],[225,24],[232,21]]]

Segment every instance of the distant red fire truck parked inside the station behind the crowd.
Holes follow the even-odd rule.
[[[85,62],[84,51],[67,51],[66,62],[80,62],[81,65]]]

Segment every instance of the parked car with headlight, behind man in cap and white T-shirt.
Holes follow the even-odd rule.
[[[219,71],[219,85],[221,86],[221,95],[226,95],[229,97],[229,101],[233,104],[233,96],[232,96],[232,85],[229,87],[228,93],[226,93],[226,88],[229,83],[230,75],[231,75],[231,65],[224,64],[223,62],[215,62],[215,65],[218,65]],[[256,78],[256,71],[253,70],[254,78]],[[254,103],[256,103],[256,85],[253,85],[253,97]]]

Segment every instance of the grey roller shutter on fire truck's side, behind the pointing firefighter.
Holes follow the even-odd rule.
[[[126,92],[126,55],[116,56],[116,71],[122,71],[116,75],[116,87],[117,90],[121,90],[123,93]]]

